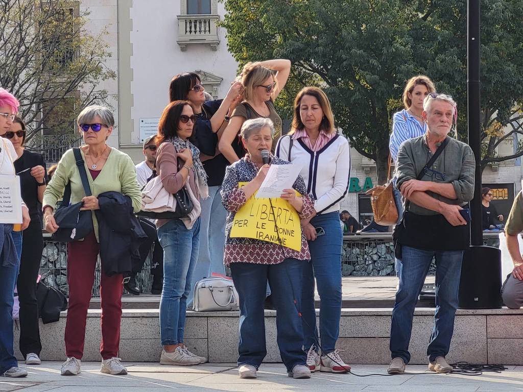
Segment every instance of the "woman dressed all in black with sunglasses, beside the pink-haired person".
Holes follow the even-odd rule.
[[[38,153],[25,148],[26,125],[16,117],[4,137],[10,139],[15,147],[15,170],[20,176],[22,199],[29,209],[31,222],[22,232],[22,253],[20,273],[16,282],[20,301],[20,352],[26,364],[39,365],[40,329],[38,326],[38,302],[36,299],[36,280],[42,257],[42,199],[46,190],[46,161]]]

